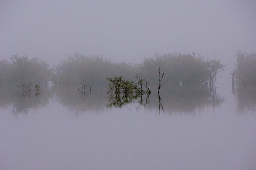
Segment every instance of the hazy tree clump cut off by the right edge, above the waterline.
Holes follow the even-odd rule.
[[[235,57],[237,82],[242,85],[256,85],[256,53],[237,51]]]

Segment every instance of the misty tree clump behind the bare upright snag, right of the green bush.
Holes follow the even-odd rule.
[[[207,85],[208,81],[213,84],[216,80],[216,74],[224,70],[224,65],[219,60],[207,61],[200,55],[195,57],[192,54],[164,54],[156,55],[155,58],[146,58],[140,67],[140,74],[145,75],[145,79],[153,84],[158,84],[154,78],[154,70],[159,66],[164,70],[164,84],[174,86],[184,85]]]

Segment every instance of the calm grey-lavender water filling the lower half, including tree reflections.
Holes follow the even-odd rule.
[[[107,107],[99,91],[51,91],[1,91],[0,169],[256,168],[254,90],[161,89],[160,110],[154,92]]]

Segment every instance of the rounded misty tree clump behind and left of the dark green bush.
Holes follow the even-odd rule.
[[[51,80],[54,84],[62,85],[77,85],[85,81],[90,86],[106,86],[107,77],[123,75],[125,79],[132,79],[135,76],[136,67],[124,62],[113,63],[97,55],[87,57],[75,53],[55,66]]]

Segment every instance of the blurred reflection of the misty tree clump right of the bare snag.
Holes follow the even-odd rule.
[[[168,113],[191,113],[195,109],[202,110],[204,107],[216,107],[224,102],[224,97],[216,94],[215,87],[179,86],[161,90],[160,98],[156,94],[152,95],[152,102],[147,105],[147,109],[156,109],[157,107],[159,113],[160,108]],[[153,103],[159,103],[159,105]],[[164,106],[164,109],[162,106]]]

